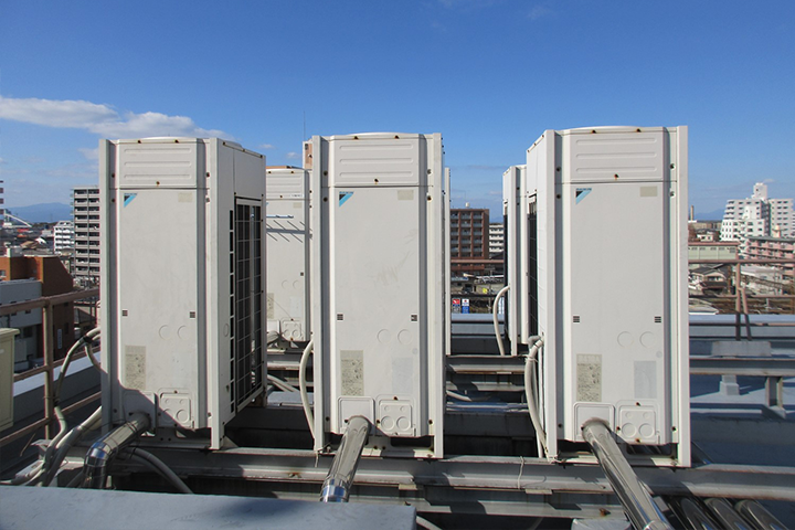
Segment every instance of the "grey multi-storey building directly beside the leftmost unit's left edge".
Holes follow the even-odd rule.
[[[74,264],[72,275],[83,285],[99,284],[99,187],[75,188],[72,193],[74,219]]]

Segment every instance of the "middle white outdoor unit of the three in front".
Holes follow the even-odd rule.
[[[365,454],[442,457],[442,136],[316,136],[310,152],[315,448],[362,415]]]

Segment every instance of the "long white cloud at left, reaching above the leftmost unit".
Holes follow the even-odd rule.
[[[232,138],[222,130],[204,129],[186,116],[125,113],[109,105],[84,100],[11,98],[0,96],[0,118],[45,127],[85,129],[106,138],[190,136]]]

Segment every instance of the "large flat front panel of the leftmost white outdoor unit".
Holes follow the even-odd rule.
[[[119,191],[116,262],[119,383],[125,404],[157,400],[158,425],[203,426],[198,417],[202,392],[197,316],[203,310],[204,192],[200,190]],[[169,224],[162,215],[169,212]],[[179,266],[174,266],[179,264]],[[166,398],[166,401],[163,401]]]

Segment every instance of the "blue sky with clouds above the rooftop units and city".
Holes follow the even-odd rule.
[[[544,129],[690,127],[690,202],[795,197],[795,2],[0,1],[0,180],[96,183],[99,138],[442,132],[453,203],[501,212]],[[698,215],[697,215],[698,216]]]

